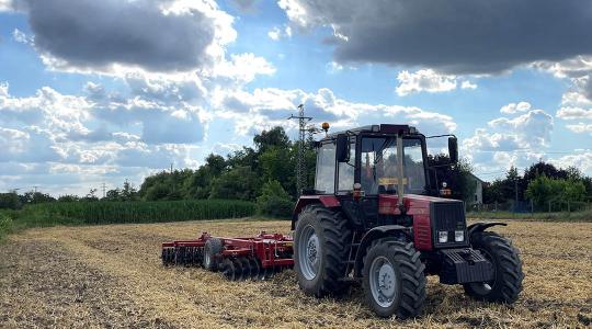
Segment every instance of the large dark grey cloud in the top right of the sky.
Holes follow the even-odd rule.
[[[301,29],[332,29],[338,61],[491,73],[592,54],[592,16],[584,1],[280,0],[278,5]]]

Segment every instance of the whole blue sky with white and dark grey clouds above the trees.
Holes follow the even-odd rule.
[[[138,186],[295,138],[298,104],[455,134],[485,181],[592,175],[590,26],[589,0],[0,0],[0,191]]]

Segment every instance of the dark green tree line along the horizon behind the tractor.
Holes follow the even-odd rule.
[[[311,137],[309,138],[311,141]],[[307,145],[308,146],[308,143]],[[316,154],[305,146],[306,181],[314,186]],[[84,196],[61,195],[57,198],[41,192],[0,194],[0,208],[20,208],[26,204],[46,202],[92,201],[177,201],[177,200],[242,200],[257,202],[262,214],[289,216],[296,191],[298,141],[289,140],[282,127],[257,134],[253,147],[242,147],[226,157],[210,154],[197,169],[163,170],[145,178],[139,189],[125,181],[122,188],[106,191],[104,197],[91,189]],[[454,198],[470,202],[476,180],[467,161],[449,167],[446,155],[429,156],[430,179],[452,190]],[[585,200],[592,195],[592,179],[577,168],[558,169],[539,161],[523,175],[511,168],[503,179],[483,184],[483,203],[533,200],[537,205],[550,200]]]

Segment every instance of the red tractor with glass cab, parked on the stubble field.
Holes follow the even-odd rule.
[[[457,140],[446,136],[454,166]],[[382,124],[315,141],[315,189],[303,191],[292,219],[306,294],[338,295],[357,281],[378,316],[409,318],[421,313],[425,275],[435,274],[477,299],[516,300],[524,277],[517,251],[487,231],[505,224],[467,226],[462,201],[437,197],[425,139],[414,127]]]

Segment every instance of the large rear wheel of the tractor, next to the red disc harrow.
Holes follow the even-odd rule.
[[[294,266],[305,294],[322,297],[344,292],[351,234],[343,215],[322,205],[309,205],[299,214]]]

